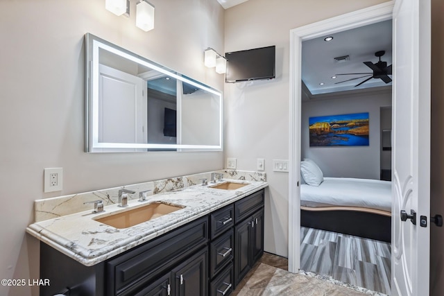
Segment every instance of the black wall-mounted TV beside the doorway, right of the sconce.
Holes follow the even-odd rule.
[[[227,71],[225,82],[275,78],[276,46],[225,53]]]

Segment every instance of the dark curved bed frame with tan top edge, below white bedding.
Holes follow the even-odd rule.
[[[300,225],[391,242],[391,213],[362,207],[300,207]]]

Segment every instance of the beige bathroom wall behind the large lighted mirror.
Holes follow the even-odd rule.
[[[203,49],[223,51],[219,3],[151,0],[155,29],[146,33],[130,2],[126,18],[105,10],[105,0],[0,1],[1,279],[39,277],[39,244],[25,234],[33,200],[223,167],[222,152],[83,152],[87,32],[223,90],[223,76],[203,66]],[[43,193],[50,167],[64,169],[62,192]],[[31,288],[0,286],[0,295],[31,295]]]

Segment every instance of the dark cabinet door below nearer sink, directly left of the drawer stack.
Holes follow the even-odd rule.
[[[192,256],[172,271],[174,295],[207,296],[208,294],[208,248]]]

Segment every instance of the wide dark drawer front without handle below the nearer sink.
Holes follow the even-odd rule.
[[[208,241],[208,218],[200,218],[107,262],[107,295],[134,295]]]

